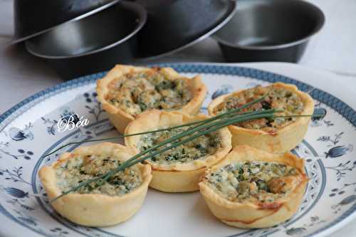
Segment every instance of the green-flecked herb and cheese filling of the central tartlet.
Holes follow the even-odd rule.
[[[150,147],[164,142],[165,140],[178,135],[186,130],[189,130],[189,127],[179,127],[173,130],[166,130],[162,132],[155,132],[140,137],[139,142],[137,143],[137,148],[140,151],[149,149]],[[188,137],[183,137],[179,139],[187,139]],[[177,140],[178,141],[178,140]],[[172,143],[168,143],[163,147],[168,147]],[[163,147],[159,148],[162,149]],[[220,136],[218,132],[211,132],[207,135],[197,137],[190,142],[184,143],[173,149],[169,149],[167,152],[158,154],[155,157],[152,157],[150,161],[157,164],[173,164],[173,163],[187,163],[193,162],[197,159],[205,159],[211,154],[214,154],[217,149],[221,147]]]

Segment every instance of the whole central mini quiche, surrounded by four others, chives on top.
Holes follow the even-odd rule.
[[[182,112],[150,110],[130,122],[125,134],[148,132],[175,127],[206,119],[203,114],[190,116]],[[127,147],[142,152],[170,137],[191,129],[190,126],[164,130],[132,137],[125,137]],[[187,139],[183,137],[182,139]],[[172,143],[166,144],[167,147]],[[162,147],[160,147],[162,148]],[[199,190],[199,179],[209,167],[219,162],[231,149],[231,134],[224,127],[208,135],[197,137],[190,142],[158,154],[146,162],[152,166],[150,187],[166,192],[186,192]]]

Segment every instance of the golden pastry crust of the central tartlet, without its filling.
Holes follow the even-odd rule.
[[[135,120],[130,122],[125,130],[125,134],[152,131],[160,127],[173,127],[184,123],[204,120],[206,118],[207,116],[203,114],[189,116],[182,112],[150,110],[143,112]],[[152,166],[153,177],[150,187],[167,192],[199,190],[199,178],[204,174],[206,167],[219,162],[231,149],[231,134],[229,130],[225,127],[219,130],[218,134],[220,137],[220,147],[217,148],[214,154],[209,154],[204,159],[173,164],[157,164],[147,160],[147,163]],[[137,144],[141,136],[142,135],[125,137],[125,144],[127,147],[132,147],[139,152]]]

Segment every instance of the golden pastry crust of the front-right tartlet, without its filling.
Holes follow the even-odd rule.
[[[204,182],[204,177],[199,183],[200,192],[204,197],[210,211],[229,226],[239,228],[265,228],[275,226],[288,220],[298,210],[303,199],[308,177],[304,170],[304,160],[295,155],[271,154],[246,145],[234,147],[234,149],[218,164],[206,171],[206,175],[214,172],[227,164],[245,161],[278,162],[294,167],[298,171],[298,184],[293,191],[276,201],[268,203],[238,202],[224,199]]]

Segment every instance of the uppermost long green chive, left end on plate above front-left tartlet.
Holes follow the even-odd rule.
[[[258,98],[257,100],[253,100],[252,102],[248,102],[248,103],[246,103],[244,105],[241,105],[240,107],[237,107],[236,109],[229,110],[227,112],[221,113],[221,114],[216,115],[214,117],[210,117],[210,118],[208,118],[206,120],[201,120],[201,121],[197,121],[197,122],[189,122],[189,123],[186,123],[184,125],[177,125],[177,126],[174,126],[174,127],[167,127],[167,128],[162,128],[162,129],[159,129],[159,130],[149,131],[149,132],[137,132],[137,133],[128,134],[128,135],[119,135],[119,136],[116,136],[116,137],[108,137],[108,138],[102,138],[102,139],[90,139],[88,141],[83,141],[83,142],[68,142],[67,144],[64,144],[63,146],[58,147],[57,149],[54,149],[52,152],[46,154],[44,157],[48,157],[51,154],[54,154],[54,153],[58,152],[60,149],[63,149],[64,147],[68,147],[68,146],[70,146],[72,144],[82,144],[82,143],[86,143],[86,142],[102,142],[102,141],[108,141],[108,140],[112,140],[112,139],[119,139],[119,138],[122,138],[122,137],[132,137],[132,136],[137,136],[137,135],[145,135],[145,134],[148,134],[148,133],[162,132],[162,131],[167,131],[167,130],[174,130],[174,129],[177,129],[179,127],[187,127],[187,126],[191,126],[191,125],[205,124],[207,122],[211,122],[211,121],[217,120],[217,119],[219,119],[221,117],[225,117],[225,116],[231,115],[231,114],[233,114],[235,112],[240,112],[244,108],[260,102],[264,98],[266,98],[266,95],[262,96],[261,98]],[[247,113],[248,112],[245,112],[244,114],[247,114]],[[241,114],[241,115],[244,115],[244,114]]]

